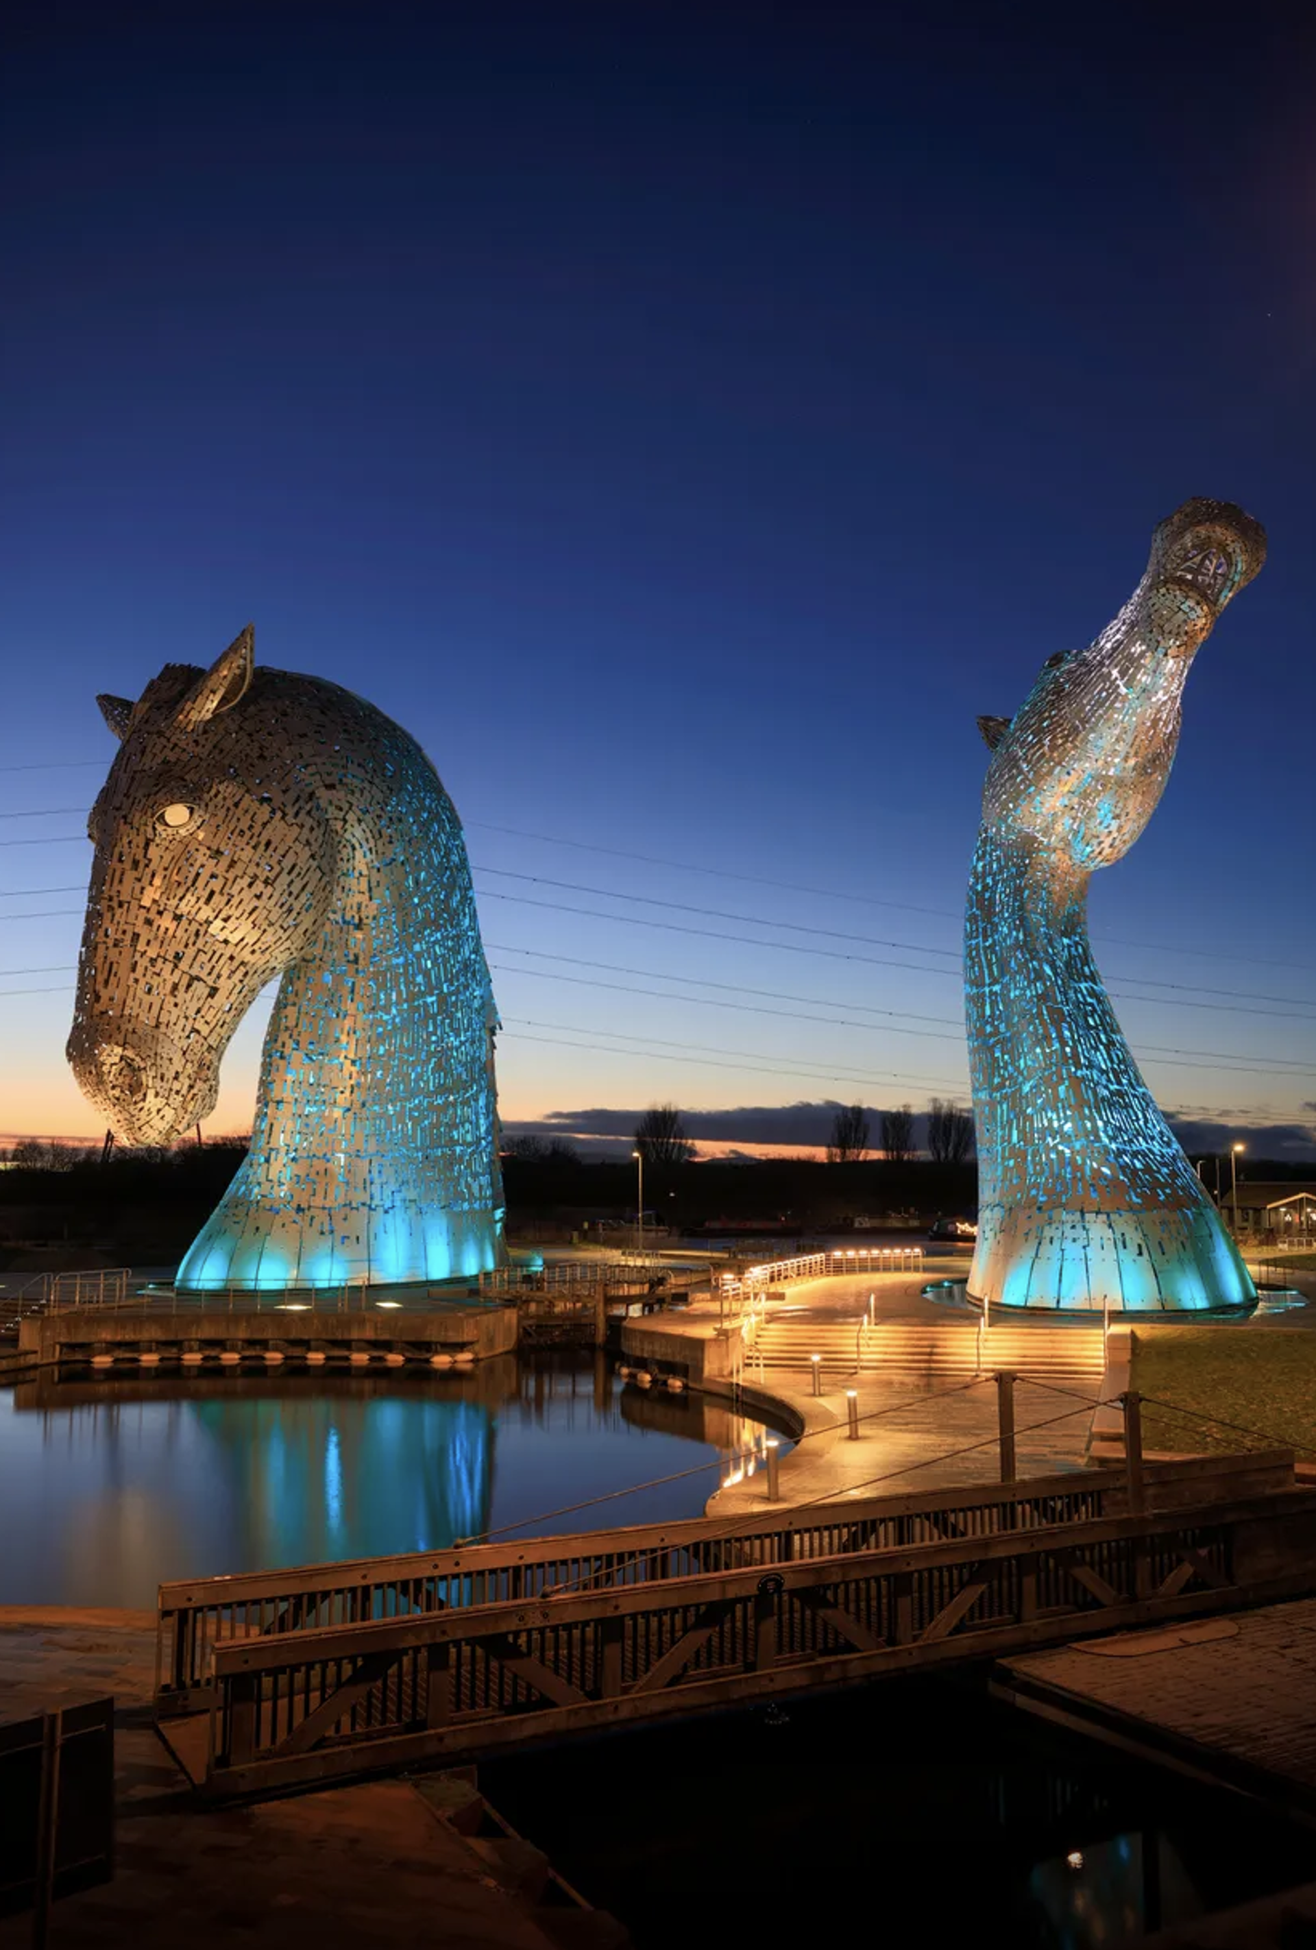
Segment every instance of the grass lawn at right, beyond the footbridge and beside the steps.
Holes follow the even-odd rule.
[[[1302,1328],[1139,1328],[1129,1386],[1154,1396],[1142,1402],[1144,1449],[1293,1447],[1316,1457],[1316,1334]]]

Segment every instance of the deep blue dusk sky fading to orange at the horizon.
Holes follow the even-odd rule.
[[[1061,16],[19,8],[0,766],[80,762],[0,770],[0,811],[84,807],[94,692],[255,618],[263,661],[372,698],[452,792],[509,1121],[671,1096],[760,1106],[721,1133],[770,1139],[772,1106],[922,1106],[967,1074],[975,714],[1109,618],[1158,517],[1222,495],[1269,564],[1094,934],[1164,1106],[1316,1127],[1312,25]],[[0,922],[6,1131],[94,1125],[70,996],[14,993],[72,979],[80,895],[12,891],[82,883],[78,829],[0,819],[51,837],[0,850],[0,913],[57,911]],[[883,1008],[940,1026],[856,1014]],[[250,1115],[259,1028],[214,1129]]]

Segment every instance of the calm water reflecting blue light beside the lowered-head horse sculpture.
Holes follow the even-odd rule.
[[[460,1377],[43,1377],[0,1392],[0,1605],[154,1609],[170,1578],[698,1517],[762,1435],[712,1398],[624,1388],[595,1353]]]

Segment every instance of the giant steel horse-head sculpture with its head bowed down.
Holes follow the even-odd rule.
[[[168,663],[121,739],[68,1061],[129,1145],[214,1108],[224,1047],[283,975],[252,1149],[177,1285],[370,1285],[505,1260],[497,1016],[452,801],[337,684],[255,669],[248,628]]]

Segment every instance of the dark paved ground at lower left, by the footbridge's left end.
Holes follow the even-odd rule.
[[[135,1708],[150,1700],[150,1613],[0,1609],[0,1718],[115,1696],[115,1878],[55,1909],[60,1950],[252,1950],[320,1942],[443,1942],[445,1950],[624,1950],[602,1911],[550,1907],[548,1864],[519,1837],[458,1833],[441,1808],[478,1810],[462,1780],[435,1774],[331,1788],[255,1808],[199,1808],[191,1782]],[[489,1829],[493,1823],[484,1821]],[[0,1950],[25,1950],[27,1915],[0,1921]]]

